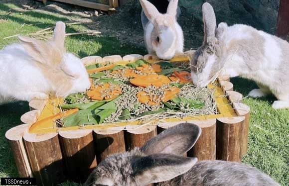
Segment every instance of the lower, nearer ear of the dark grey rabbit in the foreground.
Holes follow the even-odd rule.
[[[133,175],[139,185],[171,180],[186,173],[197,163],[197,158],[170,154],[153,154],[132,163]]]

